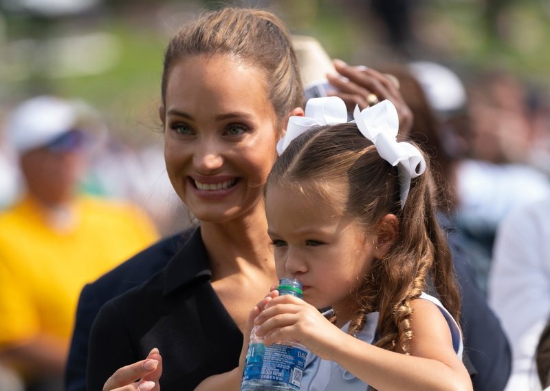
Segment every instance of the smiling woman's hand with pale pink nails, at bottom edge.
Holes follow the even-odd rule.
[[[119,368],[103,385],[103,391],[160,391],[162,357],[154,348],[146,359]],[[135,379],[140,379],[135,381]]]

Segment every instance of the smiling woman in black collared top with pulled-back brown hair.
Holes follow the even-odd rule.
[[[89,390],[157,390],[161,374],[163,389],[192,390],[234,368],[250,292],[277,281],[263,184],[287,118],[303,114],[287,30],[262,10],[203,14],[168,45],[162,103],[168,176],[201,224],[164,271],[102,307]]]

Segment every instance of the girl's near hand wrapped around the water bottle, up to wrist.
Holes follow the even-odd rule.
[[[331,359],[342,331],[331,324],[317,308],[291,295],[272,298],[255,319],[256,335],[264,344],[295,341],[322,359]]]

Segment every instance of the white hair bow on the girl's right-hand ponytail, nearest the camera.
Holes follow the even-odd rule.
[[[426,170],[426,160],[414,145],[397,142],[399,118],[395,106],[387,99],[363,111],[355,106],[353,118],[363,136],[373,142],[378,154],[391,165],[399,165],[399,199],[403,209],[410,190],[410,180]]]

